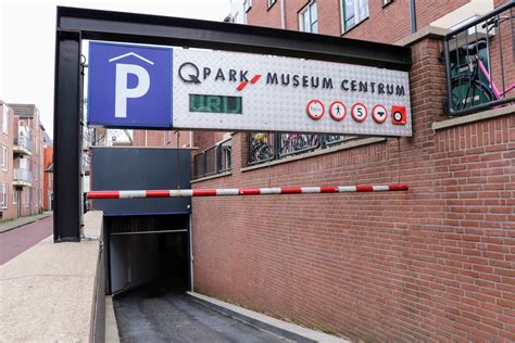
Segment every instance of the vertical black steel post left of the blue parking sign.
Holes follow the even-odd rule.
[[[53,241],[80,241],[80,33],[55,35]]]

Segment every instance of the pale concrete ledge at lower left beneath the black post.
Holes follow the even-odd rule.
[[[99,237],[101,224],[102,213],[88,213],[86,234]],[[52,239],[0,266],[0,342],[93,341],[101,244]]]

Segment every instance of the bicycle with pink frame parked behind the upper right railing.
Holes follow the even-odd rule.
[[[490,30],[494,27],[499,27],[502,22],[507,20],[511,20],[510,16],[494,17],[487,21],[482,27],[487,27],[488,35]],[[464,68],[463,64],[460,64],[460,61],[456,61],[456,63],[451,66],[451,72],[456,75],[451,79],[451,105],[455,111],[502,100],[507,92],[515,88],[514,82],[507,88],[499,90],[487,66],[479,56],[479,52],[485,48],[489,48],[487,39],[479,39],[474,43],[465,45],[457,49],[457,56],[465,56],[464,60],[467,63],[465,71],[467,71],[467,75],[461,74]],[[487,82],[485,80],[487,80]]]

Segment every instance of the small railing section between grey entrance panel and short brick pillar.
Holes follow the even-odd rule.
[[[227,139],[193,156],[193,178],[230,172],[231,140]]]

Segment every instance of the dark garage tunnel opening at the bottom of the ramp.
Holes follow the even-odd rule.
[[[104,217],[106,293],[190,289],[189,215]]]

